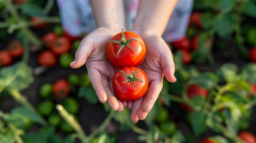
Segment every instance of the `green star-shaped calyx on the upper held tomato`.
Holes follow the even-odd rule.
[[[141,42],[141,40],[139,40],[138,38],[126,39],[126,37],[124,35],[124,30],[122,29],[122,39],[121,39],[121,41],[111,40],[110,42],[119,44],[121,46],[121,48],[119,48],[119,50],[117,52],[117,57],[118,57],[119,53],[123,50],[123,48],[125,46],[131,48],[133,51],[135,51],[138,54],[138,52],[132,46],[129,45],[130,42],[135,41],[135,40],[138,40],[139,42]]]

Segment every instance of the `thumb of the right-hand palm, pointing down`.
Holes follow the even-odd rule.
[[[169,82],[175,82],[177,80],[176,77],[174,76],[175,64],[173,61],[173,54],[171,53],[171,50],[169,50],[169,48],[168,51],[164,52],[163,55],[161,56],[160,63],[162,65],[163,73],[166,79]]]

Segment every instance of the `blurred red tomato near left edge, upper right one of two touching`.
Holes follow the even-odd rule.
[[[20,57],[23,54],[24,48],[19,40],[14,40],[13,42],[9,43],[8,51],[12,57]]]

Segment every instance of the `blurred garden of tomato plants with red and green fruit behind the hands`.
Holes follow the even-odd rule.
[[[0,0],[0,143],[256,143],[256,0],[194,0],[177,81],[138,123],[70,68],[82,36],[55,0]]]

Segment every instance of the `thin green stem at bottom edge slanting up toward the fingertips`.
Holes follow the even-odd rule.
[[[110,123],[110,121],[112,120],[113,115],[111,114],[111,112],[108,114],[108,116],[106,117],[106,119],[103,121],[103,123],[101,123],[101,125],[94,131],[92,132],[88,137],[87,137],[87,142],[91,141],[97,134],[99,134],[100,132],[103,132],[103,130],[105,130],[105,128],[107,127],[107,125]]]

